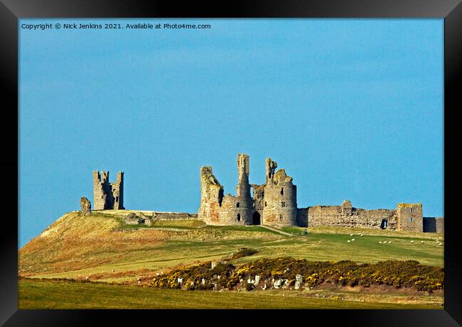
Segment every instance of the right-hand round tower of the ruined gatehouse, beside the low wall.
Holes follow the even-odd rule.
[[[276,170],[277,162],[267,158],[267,183],[263,191],[262,224],[297,225],[296,186],[284,169]]]

